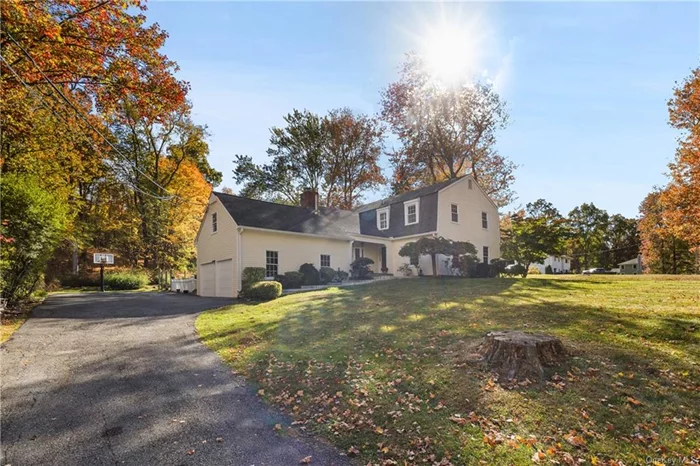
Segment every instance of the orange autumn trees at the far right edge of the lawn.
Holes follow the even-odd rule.
[[[700,273],[700,68],[677,84],[668,110],[678,148],[668,184],[639,207],[642,254],[655,273]]]

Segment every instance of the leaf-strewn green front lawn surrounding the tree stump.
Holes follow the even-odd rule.
[[[363,464],[700,456],[700,277],[392,280],[237,304],[196,325],[290,429]],[[571,362],[542,387],[503,388],[468,357],[496,329],[554,334]]]

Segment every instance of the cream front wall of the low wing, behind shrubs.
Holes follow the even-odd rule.
[[[296,272],[305,263],[321,267],[321,254],[330,254],[331,267],[350,269],[349,240],[319,236],[262,231],[242,227],[241,270],[246,267],[265,267],[265,251],[278,252],[278,273]]]

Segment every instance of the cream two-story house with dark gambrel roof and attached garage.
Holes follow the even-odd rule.
[[[214,192],[196,239],[197,293],[238,296],[246,267],[275,277],[304,263],[348,271],[354,259],[369,257],[375,272],[397,274],[408,263],[399,249],[424,236],[469,241],[484,262],[500,257],[498,209],[468,176],[352,211],[320,207],[313,191],[302,194],[300,207]],[[440,274],[449,273],[444,263]],[[429,256],[420,267],[433,274]]]

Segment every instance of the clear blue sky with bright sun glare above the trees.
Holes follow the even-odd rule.
[[[160,1],[147,15],[170,34],[165,52],[191,83],[210,161],[234,190],[234,155],[264,162],[269,128],[286,113],[376,113],[404,53],[448,22],[475,51],[474,74],[508,103],[498,150],[519,165],[516,204],[543,197],[568,213],[594,202],[636,216],[674,154],[674,82],[700,58],[697,2]]]

